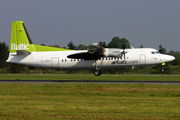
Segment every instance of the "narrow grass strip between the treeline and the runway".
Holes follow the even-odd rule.
[[[180,75],[0,74],[0,80],[180,81]]]

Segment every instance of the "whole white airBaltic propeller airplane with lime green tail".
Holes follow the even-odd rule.
[[[23,21],[12,23],[10,52],[7,62],[51,69],[136,67],[170,62],[175,58],[160,54],[156,49],[103,48],[98,43],[88,50],[70,50],[33,44]]]

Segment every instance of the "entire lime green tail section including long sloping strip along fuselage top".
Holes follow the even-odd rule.
[[[24,50],[27,52],[69,51],[69,49],[33,44],[23,21],[15,21],[12,23],[10,53],[16,53],[17,50]]]

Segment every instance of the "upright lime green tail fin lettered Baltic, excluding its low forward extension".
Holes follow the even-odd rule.
[[[35,51],[23,21],[15,21],[12,23],[10,53],[16,53],[17,50]]]

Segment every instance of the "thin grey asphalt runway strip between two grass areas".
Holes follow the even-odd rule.
[[[28,84],[63,84],[63,83],[89,83],[89,84],[161,84],[180,85],[180,81],[95,81],[95,80],[0,80],[0,83],[28,83]]]

